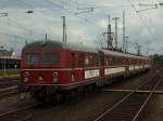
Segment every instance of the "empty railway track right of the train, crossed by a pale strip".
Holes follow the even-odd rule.
[[[93,121],[136,121],[154,94],[162,78],[155,76],[123,97]],[[149,93],[143,93],[149,91]]]

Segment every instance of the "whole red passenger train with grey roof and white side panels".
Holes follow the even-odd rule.
[[[60,41],[36,41],[22,51],[21,78],[37,98],[43,99],[87,85],[100,86],[150,67],[148,57]]]

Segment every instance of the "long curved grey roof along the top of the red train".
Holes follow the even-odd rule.
[[[143,56],[136,56],[131,54],[125,54],[121,52],[114,52],[114,51],[109,51],[109,50],[100,50],[91,46],[86,46],[86,45],[79,45],[79,44],[73,44],[73,43],[65,43],[61,41],[35,41],[32,43],[28,43],[24,46],[23,51],[35,51],[35,50],[50,50],[50,49],[64,49],[64,50],[71,50],[71,51],[79,51],[79,52],[90,52],[90,53],[98,53],[99,51],[102,51],[106,55],[112,55],[112,56],[123,56],[123,57],[133,57],[133,58],[141,58],[141,59],[149,59],[148,57]]]

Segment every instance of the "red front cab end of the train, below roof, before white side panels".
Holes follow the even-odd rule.
[[[32,89],[70,90],[84,81],[85,53],[53,50],[22,54],[22,82]]]

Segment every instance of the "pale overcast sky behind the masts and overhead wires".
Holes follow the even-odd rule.
[[[133,43],[138,42],[145,55],[163,54],[163,6],[139,6],[139,3],[160,2],[163,0],[0,0],[0,12],[8,13],[8,16],[0,15],[0,45],[8,50],[13,48],[20,54],[25,41],[42,40],[46,33],[49,39],[62,41],[61,16],[64,15],[68,42],[98,48],[100,42],[105,42],[102,33],[106,31],[110,15],[121,17],[117,40],[122,46],[125,10],[129,52],[136,52]],[[87,8],[93,8],[93,12],[86,12]],[[149,10],[141,11],[146,9]],[[27,14],[27,11],[34,13]],[[114,22],[111,24],[114,31]]]

